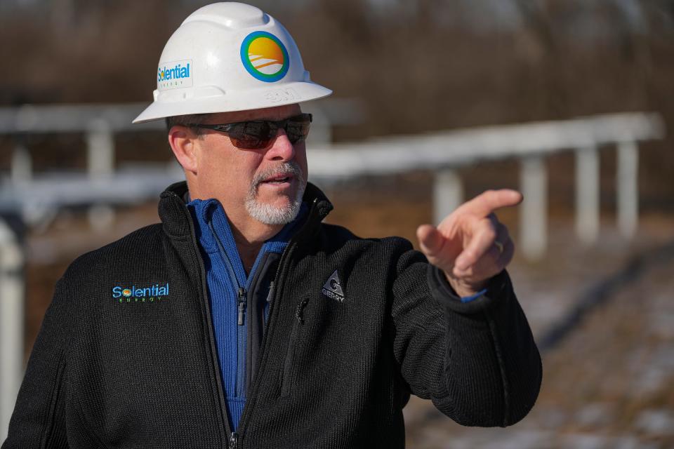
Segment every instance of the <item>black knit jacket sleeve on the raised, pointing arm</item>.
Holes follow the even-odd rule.
[[[466,426],[509,426],[534,406],[541,358],[508,273],[463,303],[414,250],[397,262],[393,350],[411,393]]]

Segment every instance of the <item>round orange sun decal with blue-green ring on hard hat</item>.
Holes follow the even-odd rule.
[[[288,51],[282,41],[265,31],[252,32],[241,44],[241,62],[249,74],[260,81],[279,81],[290,67]]]

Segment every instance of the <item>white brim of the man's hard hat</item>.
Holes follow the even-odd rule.
[[[258,88],[249,91],[225,93],[206,98],[192,98],[180,101],[154,101],[145,108],[132,123],[146,123],[170,116],[187,114],[213,114],[217,112],[246,111],[266,107],[293,105],[295,103],[318,100],[332,91],[317,83],[299,81],[284,83],[274,88]]]

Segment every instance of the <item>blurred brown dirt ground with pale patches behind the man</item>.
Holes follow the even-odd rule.
[[[507,185],[507,182],[505,182]],[[472,196],[480,186],[469,187]],[[327,221],[361,236],[401,235],[414,241],[429,222],[430,180],[404,179],[332,185],[325,189],[335,210]],[[602,215],[600,241],[583,246],[573,218],[550,214],[549,249],[540,262],[517,255],[509,267],[515,290],[536,337],[545,335],[576,300],[635,257],[674,239],[674,217],[643,214],[632,241],[616,232],[614,216]],[[515,236],[516,210],[499,217]],[[74,257],[157,222],[155,204],[117,210],[107,230],[94,231],[85,213],[60,213],[27,238],[29,351],[53,285]],[[670,255],[671,256],[671,255]],[[591,310],[560,345],[543,356],[544,379],[534,410],[508,429],[460,427],[432,404],[412,398],[405,408],[409,448],[670,448],[674,447],[674,257],[653,263],[637,279]]]

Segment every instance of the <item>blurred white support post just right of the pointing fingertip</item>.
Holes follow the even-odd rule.
[[[540,260],[548,247],[548,170],[543,156],[522,159],[520,241],[527,260]]]

